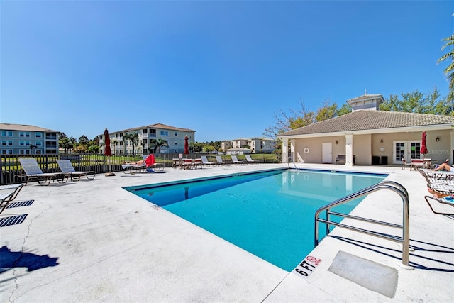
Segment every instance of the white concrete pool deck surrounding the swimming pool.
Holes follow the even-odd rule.
[[[454,301],[454,220],[431,212],[423,199],[426,185],[419,172],[380,165],[298,166],[385,172],[389,173],[387,180],[404,185],[410,198],[410,245],[414,248],[409,261],[415,269],[399,266],[402,263],[399,243],[336,228],[331,233],[333,236],[323,239],[311,253],[320,258],[321,263],[309,277],[286,272],[122,187],[287,165],[228,165],[202,170],[168,167],[163,173],[126,175],[116,172],[114,177],[97,175],[94,180],[55,182],[48,187],[40,187],[34,182],[23,187],[16,201],[34,199],[33,204],[9,208],[0,215],[0,219],[14,214],[28,215],[21,224],[0,228],[0,300]],[[450,206],[443,209],[446,208],[454,210]],[[374,192],[355,208],[353,214],[402,224],[402,200],[391,191]],[[376,230],[389,233],[389,228],[384,226]],[[312,234],[295,236],[314,237]],[[341,266],[343,272],[334,273],[334,265],[342,261],[339,252],[346,253],[354,264],[341,263],[345,264],[344,268]],[[305,257],[301,255],[301,260]],[[377,272],[364,266],[362,260],[373,261],[372,268]],[[380,268],[397,273],[394,288],[382,285],[392,277],[382,275]],[[372,282],[354,282],[352,276],[372,276]],[[377,285],[373,285],[375,282],[378,291]],[[380,287],[390,290],[391,294],[383,294]]]

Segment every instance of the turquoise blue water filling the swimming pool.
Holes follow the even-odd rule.
[[[126,189],[291,271],[314,248],[316,209],[384,177],[279,170]],[[359,202],[356,199],[335,210],[348,214]]]

